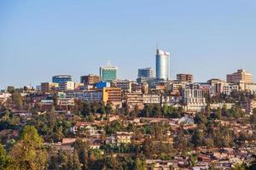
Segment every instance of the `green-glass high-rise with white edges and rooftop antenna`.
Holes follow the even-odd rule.
[[[104,82],[112,82],[117,80],[118,68],[112,65],[100,67],[100,77]]]

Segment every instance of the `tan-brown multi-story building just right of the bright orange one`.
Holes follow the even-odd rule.
[[[129,111],[133,111],[135,107],[143,110],[143,93],[127,93],[125,94],[125,101]]]

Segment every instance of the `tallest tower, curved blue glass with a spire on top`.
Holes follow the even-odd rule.
[[[155,55],[155,73],[158,79],[169,79],[170,53],[157,49]]]

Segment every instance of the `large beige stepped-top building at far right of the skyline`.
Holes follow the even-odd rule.
[[[233,74],[227,75],[227,82],[245,82],[251,83],[253,82],[253,74],[249,73],[245,70],[238,70]]]

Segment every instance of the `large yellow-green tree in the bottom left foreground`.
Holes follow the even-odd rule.
[[[33,126],[23,127],[20,140],[11,150],[17,169],[43,170],[47,168],[48,154],[43,148],[43,139]]]

